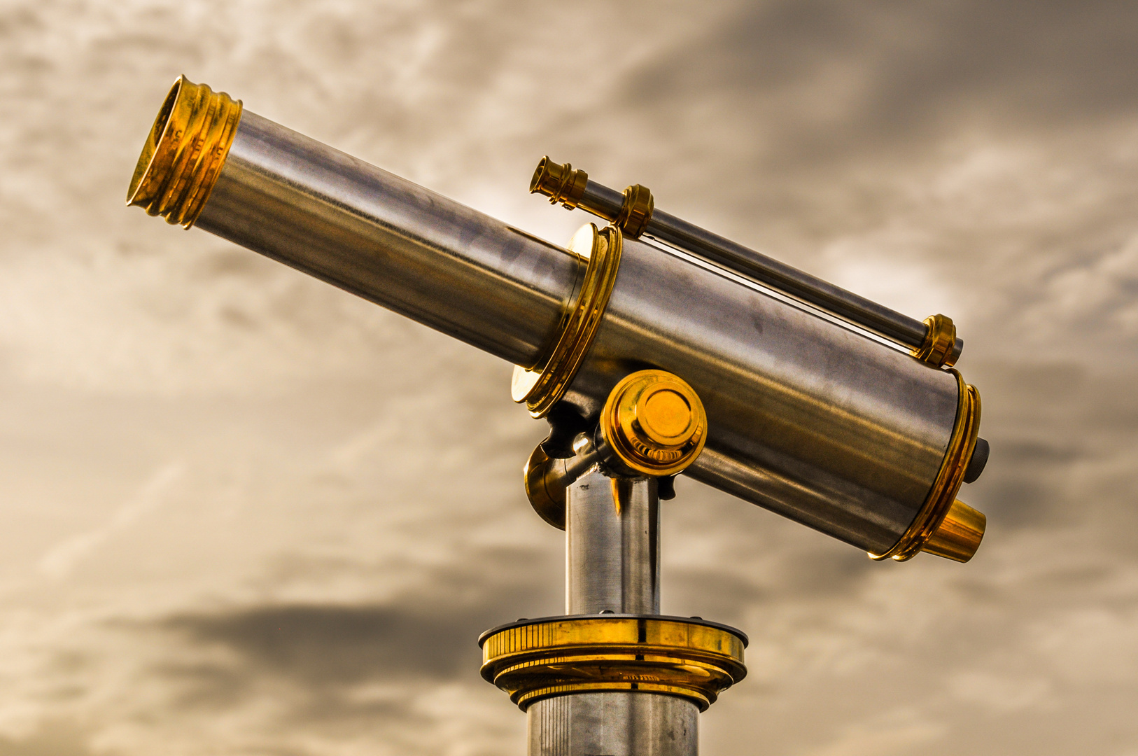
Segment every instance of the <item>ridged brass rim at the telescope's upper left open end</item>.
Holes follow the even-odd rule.
[[[190,228],[198,219],[241,121],[241,101],[179,76],[139,156],[127,205]]]

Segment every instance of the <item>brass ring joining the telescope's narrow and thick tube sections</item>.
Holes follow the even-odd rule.
[[[563,321],[553,351],[539,368],[527,370],[517,365],[513,369],[510,386],[513,401],[525,402],[535,418],[545,417],[572,383],[582,360],[593,345],[620,269],[621,235],[617,227],[597,230],[595,224],[588,223],[574,236],[570,248],[579,252],[577,247],[591,247],[588,265],[580,294],[570,305],[569,317]]]

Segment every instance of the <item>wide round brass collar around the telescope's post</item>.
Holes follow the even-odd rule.
[[[682,696],[702,712],[747,675],[742,633],[681,617],[550,617],[479,642],[483,677],[522,710],[550,696],[638,690]]]

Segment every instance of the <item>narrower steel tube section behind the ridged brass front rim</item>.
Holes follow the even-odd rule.
[[[245,110],[197,225],[520,365],[584,262]]]

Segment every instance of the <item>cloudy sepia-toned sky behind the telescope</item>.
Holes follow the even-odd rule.
[[[965,339],[976,557],[681,479],[706,754],[1138,756],[1138,5],[0,0],[0,756],[488,756],[558,614],[511,367],[124,206],[185,74],[556,243],[549,154]]]

